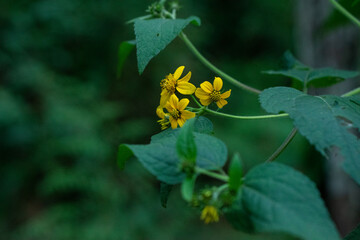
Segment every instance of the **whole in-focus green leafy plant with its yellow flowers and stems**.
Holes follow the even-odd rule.
[[[346,17],[359,24],[338,2],[331,2]],[[286,52],[284,69],[264,73],[290,77],[294,87],[272,87],[260,91],[210,63],[183,32],[189,24],[200,26],[200,19],[178,19],[177,10],[177,4],[170,4],[167,8],[166,2],[160,1],[149,7],[149,15],[130,21],[134,23],[136,41],[121,44],[119,71],[123,59],[135,44],[141,74],[153,57],[179,37],[217,77],[212,84],[205,81],[196,88],[189,83],[191,73],[180,78],[184,67],[179,67],[174,74],[162,80],[157,114],[162,129],[169,126],[172,129],[152,136],[148,145],[120,145],[120,168],[124,168],[126,161],[135,156],[162,182],[163,205],[166,205],[171,186],[181,184],[184,200],[194,208],[202,209],[201,219],[206,223],[218,221],[219,213],[222,213],[234,228],[244,232],[279,231],[303,239],[340,239],[314,183],[291,167],[273,161],[299,132],[325,157],[332,147],[339,148],[344,158],[343,169],[360,184],[360,142],[356,136],[360,129],[360,88],[342,96],[312,96],[307,93],[310,86],[330,86],[356,77],[358,72],[315,69]],[[227,100],[231,101],[231,91],[222,91],[222,79],[259,95],[262,108],[271,115],[242,116],[220,112]],[[195,107],[188,107],[190,101],[187,98],[179,100],[179,93],[190,95]],[[218,109],[211,109],[212,103]],[[204,115],[239,120],[290,118],[294,129],[272,156],[264,160],[266,163],[243,175],[241,159],[239,155],[234,155],[226,173],[223,170],[228,158],[226,145],[213,136],[212,122]],[[178,125],[180,128],[177,128]],[[224,184],[196,186],[196,180],[201,175]],[[352,235],[358,236],[357,232],[355,230]]]

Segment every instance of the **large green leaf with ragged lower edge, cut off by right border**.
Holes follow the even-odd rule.
[[[360,103],[356,97],[310,96],[292,88],[275,87],[260,94],[261,106],[270,113],[285,111],[316,149],[328,157],[338,147],[344,170],[360,184]]]

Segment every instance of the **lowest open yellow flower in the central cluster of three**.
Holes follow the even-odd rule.
[[[185,110],[189,104],[189,99],[183,98],[179,101],[175,94],[171,95],[169,101],[166,103],[166,110],[169,112],[169,121],[171,128],[177,128],[184,125],[186,120],[195,117],[195,113]]]

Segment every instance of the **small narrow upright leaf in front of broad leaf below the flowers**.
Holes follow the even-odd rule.
[[[196,145],[194,140],[194,123],[196,118],[192,118],[184,124],[180,129],[179,136],[176,141],[176,152],[178,157],[183,161],[195,163]]]

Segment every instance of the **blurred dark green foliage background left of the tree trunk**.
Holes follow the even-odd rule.
[[[179,40],[141,77],[134,54],[116,77],[119,43],[134,36],[124,22],[144,15],[149,4],[0,3],[1,239],[264,239],[236,232],[223,219],[204,225],[176,187],[163,209],[159,183],[139,163],[117,169],[120,143],[147,143],[160,131],[155,108],[163,76],[185,65],[195,84],[214,77]],[[186,32],[204,55],[262,89],[287,84],[260,72],[276,68],[275,59],[292,48],[292,4],[186,0],[180,1],[179,17],[199,16],[202,27]],[[224,110],[264,113],[255,96],[234,88]],[[229,155],[240,153],[244,170],[270,156],[292,128],[284,119],[214,120],[216,135],[227,143]],[[279,160],[319,182],[321,158],[304,161],[307,148],[298,136]]]

